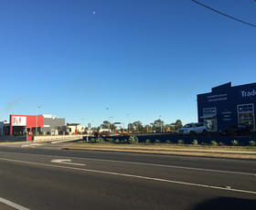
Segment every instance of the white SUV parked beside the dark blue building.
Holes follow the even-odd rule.
[[[179,129],[177,132],[179,134],[185,134],[185,135],[195,135],[195,134],[206,135],[208,132],[208,128],[203,122],[188,123],[185,126],[183,126],[181,129]]]

